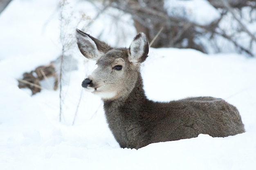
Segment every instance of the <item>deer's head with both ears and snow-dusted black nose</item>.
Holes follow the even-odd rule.
[[[135,87],[140,63],[148,56],[146,35],[138,33],[128,49],[112,48],[79,29],[76,29],[76,38],[81,53],[98,65],[82,82],[85,90],[103,100],[126,97]]]

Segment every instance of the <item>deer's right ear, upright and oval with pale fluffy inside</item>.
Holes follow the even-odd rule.
[[[142,32],[133,38],[130,48],[128,49],[128,59],[130,62],[141,63],[148,57],[148,39]]]

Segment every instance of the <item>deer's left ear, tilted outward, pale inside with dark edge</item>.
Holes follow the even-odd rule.
[[[80,52],[90,60],[97,60],[111,49],[105,42],[101,42],[79,29],[76,29],[76,40]]]

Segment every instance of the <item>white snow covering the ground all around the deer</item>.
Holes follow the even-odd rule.
[[[92,8],[88,2],[80,3]],[[101,100],[81,87],[96,66],[77,48],[79,69],[68,75],[69,83],[63,87],[63,119],[59,122],[59,91],[43,90],[31,96],[18,88],[16,80],[61,54],[57,7],[58,2],[50,0],[13,0],[0,15],[1,170],[255,169],[256,59],[244,55],[150,48],[141,68],[148,98],[169,101],[191,96],[221,97],[240,111],[246,129],[243,134],[225,138],[202,134],[139,150],[120,148],[106,124]],[[95,13],[88,10],[87,15]],[[101,17],[99,20],[104,19],[106,25],[101,27],[97,20],[89,32],[100,35],[101,27],[106,30],[102,39],[113,44],[117,31],[108,26],[110,18]],[[127,30],[122,31],[129,32],[122,42],[126,46],[135,36],[135,29],[130,27],[123,25]],[[91,28],[97,28],[95,33]],[[119,45],[124,46],[122,43]]]

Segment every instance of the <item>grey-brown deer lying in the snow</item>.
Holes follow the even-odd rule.
[[[112,48],[78,29],[76,38],[81,53],[98,64],[82,86],[103,100],[109,128],[122,148],[138,149],[199,134],[227,137],[245,132],[236,107],[223,99],[148,100],[140,73],[140,64],[148,57],[144,33],[136,35],[128,49]]]

